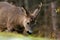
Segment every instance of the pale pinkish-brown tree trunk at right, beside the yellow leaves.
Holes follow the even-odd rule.
[[[57,13],[56,13],[56,2],[51,2],[51,16],[52,16],[52,26],[54,31],[54,36],[57,38]]]

